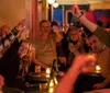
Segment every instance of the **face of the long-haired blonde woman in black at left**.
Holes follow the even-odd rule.
[[[19,55],[20,57],[23,57],[28,54],[28,49],[29,49],[29,44],[28,43],[22,43],[19,49]]]

